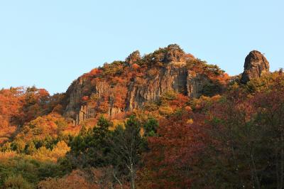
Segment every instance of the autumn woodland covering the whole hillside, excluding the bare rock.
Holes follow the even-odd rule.
[[[110,101],[124,109],[131,80],[144,85],[169,62],[209,78],[200,97],[168,90],[109,116]],[[78,104],[96,104],[96,114],[80,124],[65,112],[67,93],[0,90],[1,188],[284,188],[282,70],[244,84],[169,45],[82,78]],[[115,96],[92,93],[97,80]]]

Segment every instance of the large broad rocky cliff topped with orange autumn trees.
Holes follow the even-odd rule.
[[[75,124],[102,113],[112,117],[158,100],[169,90],[189,97],[215,95],[226,79],[216,65],[197,60],[178,45],[142,58],[135,51],[125,61],[105,64],[75,80],[66,92],[65,116]]]

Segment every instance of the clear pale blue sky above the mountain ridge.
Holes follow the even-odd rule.
[[[283,0],[0,0],[0,88],[65,92],[92,68],[170,43],[229,75],[254,49],[276,70],[283,9]]]

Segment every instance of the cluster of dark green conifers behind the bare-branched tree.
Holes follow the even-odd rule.
[[[157,122],[151,119],[146,124],[149,133],[155,130]],[[112,123],[100,117],[94,129],[84,131],[71,142],[71,151],[61,165],[72,168],[114,169],[116,180],[124,178],[136,179],[136,171],[141,159],[141,153],[146,148],[141,132],[141,123],[133,116],[129,117],[124,126],[117,126],[114,131],[109,127]]]

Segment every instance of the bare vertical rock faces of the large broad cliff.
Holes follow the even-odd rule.
[[[116,94],[114,88],[106,81],[99,80],[88,87],[88,95],[95,95],[99,99],[108,94],[107,114],[111,117],[121,112],[141,108],[146,102],[159,99],[164,92],[169,90],[180,92],[189,97],[200,97],[204,85],[209,81],[206,75],[195,74],[188,70],[185,62],[168,63],[151,77],[145,77],[144,80],[146,82],[143,84],[138,80],[129,82],[124,108],[114,106],[114,98],[120,94]],[[88,85],[90,85],[89,81],[80,77],[72,83],[66,92],[68,99],[65,117],[74,119],[75,124],[81,124],[85,119],[97,115],[99,100],[95,103],[82,104],[82,97],[86,95],[84,91]]]

